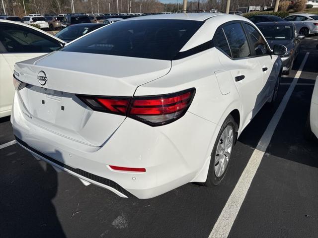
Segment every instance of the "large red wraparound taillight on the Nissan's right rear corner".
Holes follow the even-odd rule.
[[[195,89],[191,88],[158,96],[77,96],[94,111],[127,116],[151,126],[159,126],[181,118],[190,107],[194,94]]]

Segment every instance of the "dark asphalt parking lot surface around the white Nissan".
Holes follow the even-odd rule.
[[[318,74],[317,44],[318,36],[303,40],[276,106],[265,105],[246,127],[229,173],[213,188],[188,183],[152,199],[120,198],[6,144],[14,140],[12,128],[9,118],[0,119],[0,237],[317,237],[318,140],[303,135]],[[250,165],[270,129],[259,166]],[[248,168],[256,172],[250,184],[241,177]]]

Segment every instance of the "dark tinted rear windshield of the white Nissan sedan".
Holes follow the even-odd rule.
[[[172,60],[202,24],[168,19],[119,21],[62,51]]]

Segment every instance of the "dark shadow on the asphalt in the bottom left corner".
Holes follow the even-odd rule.
[[[0,158],[0,236],[64,238],[52,203],[57,172],[17,144],[1,149]]]

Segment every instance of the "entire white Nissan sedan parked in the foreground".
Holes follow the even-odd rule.
[[[239,134],[275,101],[285,52],[237,15],[119,21],[15,64],[14,135],[121,197],[217,185]]]

